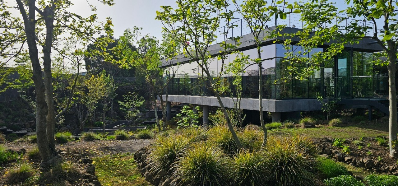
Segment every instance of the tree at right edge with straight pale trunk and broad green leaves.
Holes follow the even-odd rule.
[[[313,3],[303,3],[302,20],[306,22],[303,35],[309,35],[310,30],[314,39],[322,44],[327,41],[336,42],[331,45],[329,56],[339,53],[343,44],[358,43],[358,40],[370,38],[375,44],[380,45],[383,51],[379,55],[387,58],[381,61],[379,58],[373,62],[375,65],[387,66],[388,92],[389,92],[389,143],[390,157],[398,156],[397,144],[397,110],[396,110],[396,59],[398,49],[398,1],[396,0],[345,0],[351,5],[343,11],[338,11],[333,2],[327,0],[315,0]],[[360,18],[360,20],[355,20]],[[364,25],[364,21],[372,25]],[[380,25],[378,21],[382,22]],[[349,22],[349,24],[345,24]],[[309,41],[310,39],[308,39]]]

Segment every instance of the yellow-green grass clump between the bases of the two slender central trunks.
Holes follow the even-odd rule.
[[[263,144],[263,132],[257,129],[245,128],[238,137],[245,149],[256,150]]]

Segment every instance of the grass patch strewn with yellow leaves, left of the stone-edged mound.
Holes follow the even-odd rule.
[[[151,186],[141,176],[134,155],[95,157],[96,175],[103,186]]]

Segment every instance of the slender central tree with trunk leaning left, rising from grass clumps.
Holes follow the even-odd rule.
[[[177,9],[170,6],[161,6],[161,12],[156,12],[156,19],[163,24],[163,31],[170,35],[174,41],[183,46],[182,56],[197,63],[202,73],[198,75],[206,84],[220,104],[220,108],[224,113],[227,121],[228,129],[230,130],[234,141],[239,149],[242,148],[238,136],[231,124],[227,110],[221,101],[219,92],[217,91],[220,79],[224,74],[226,59],[236,46],[238,42],[227,43],[229,39],[228,33],[234,25],[230,25],[230,20],[233,18],[233,11],[228,10],[230,4],[227,0],[212,1],[196,1],[196,0],[178,0],[176,2]],[[222,33],[223,38],[220,39],[220,55],[214,57],[210,53],[210,46],[216,42],[218,35],[217,28],[220,23],[225,22],[226,29]],[[238,38],[234,38],[235,41]],[[192,44],[192,45],[191,45]],[[209,64],[213,59],[220,61],[220,72],[213,74],[209,70]],[[216,61],[217,62],[217,61]]]

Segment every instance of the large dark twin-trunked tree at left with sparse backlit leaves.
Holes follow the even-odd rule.
[[[103,4],[112,5],[113,0],[100,0]],[[7,60],[21,54],[27,44],[29,58],[33,67],[33,82],[36,93],[36,132],[37,146],[42,157],[42,165],[55,163],[55,106],[53,100],[53,85],[51,75],[52,50],[59,46],[62,35],[71,34],[86,41],[96,40],[95,35],[105,31],[111,35],[112,25],[108,19],[105,23],[97,23],[96,14],[83,18],[70,13],[73,5],[70,1],[62,0],[16,0],[16,4],[8,5],[0,0],[0,14],[2,19],[2,42],[0,55]],[[90,6],[94,12],[96,9]],[[13,15],[16,10],[18,13]],[[42,47],[42,53],[39,53]],[[40,56],[43,56],[42,73]]]

